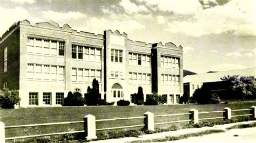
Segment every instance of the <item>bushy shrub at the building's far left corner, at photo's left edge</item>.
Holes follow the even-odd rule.
[[[12,109],[15,104],[19,105],[21,98],[19,98],[18,90],[3,89],[3,95],[0,95],[0,100],[3,109]]]

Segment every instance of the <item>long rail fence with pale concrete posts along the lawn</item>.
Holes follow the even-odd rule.
[[[231,112],[236,111],[250,111],[248,114],[244,115],[231,115]],[[222,117],[212,117],[212,118],[199,118],[200,114],[210,114],[210,113],[223,113]],[[154,118],[156,117],[171,117],[171,116],[184,116],[189,115],[187,120],[176,120],[176,121],[166,121],[161,123],[154,123]],[[230,108],[224,108],[223,111],[209,111],[209,112],[198,112],[196,109],[192,109],[189,113],[176,113],[169,115],[155,115],[152,112],[146,112],[143,116],[140,117],[127,117],[127,118],[113,118],[113,119],[98,119],[96,120],[93,115],[86,115],[83,121],[66,121],[60,123],[44,123],[44,124],[31,124],[31,125],[17,125],[17,126],[4,126],[4,123],[0,121],[0,142],[5,142],[5,140],[14,140],[14,139],[23,139],[23,138],[33,138],[33,137],[42,137],[49,135],[60,135],[68,133],[84,133],[86,139],[96,139],[96,131],[103,130],[114,130],[119,128],[132,128],[132,127],[144,127],[145,130],[154,130],[154,125],[161,124],[171,124],[171,123],[181,123],[189,121],[193,124],[198,124],[199,120],[212,120],[212,119],[231,119],[232,117],[241,117],[241,116],[250,116],[252,119],[256,119],[256,106],[251,106],[250,109],[237,109],[231,110]],[[144,124],[142,125],[131,125],[131,126],[118,126],[118,127],[109,127],[109,128],[96,128],[96,123],[101,121],[113,121],[113,120],[132,120],[132,119],[143,119]],[[84,130],[82,131],[70,131],[70,132],[59,132],[59,133],[49,133],[49,134],[36,134],[36,135],[25,135],[19,137],[9,137],[5,138],[5,129],[6,128],[19,128],[19,127],[31,127],[31,126],[49,126],[49,125],[59,125],[59,124],[76,124],[84,123]]]

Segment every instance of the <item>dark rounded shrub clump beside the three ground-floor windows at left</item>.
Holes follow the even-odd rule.
[[[68,96],[64,98],[63,106],[83,106],[85,104],[85,99],[82,97],[80,91],[79,88],[76,88],[73,94],[69,91]]]

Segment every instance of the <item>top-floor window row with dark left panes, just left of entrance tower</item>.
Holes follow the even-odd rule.
[[[102,61],[102,49],[72,45],[72,59]]]

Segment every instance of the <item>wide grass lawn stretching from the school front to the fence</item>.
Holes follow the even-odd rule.
[[[143,113],[150,111],[154,115],[166,115],[172,113],[188,113],[191,109],[197,109],[199,112],[204,111],[221,111],[225,107],[233,109],[249,109],[256,105],[255,102],[233,103],[233,104],[217,104],[217,105],[157,105],[157,106],[83,106],[83,107],[59,107],[59,108],[23,108],[23,109],[0,109],[0,120],[5,126],[26,125],[38,123],[54,123],[62,121],[80,121],[83,117],[91,114],[96,119],[123,118],[123,117],[139,117]],[[248,114],[249,111],[232,112],[232,115]],[[199,118],[221,117],[223,113],[211,113],[199,115]],[[186,116],[156,117],[155,123],[186,120]],[[118,120],[97,122],[96,128],[117,127],[126,125],[143,124],[143,119]],[[180,123],[181,124],[181,123]],[[178,124],[179,125],[179,124]],[[164,125],[166,127],[167,125]],[[71,125],[53,125],[53,126],[36,126],[26,128],[9,128],[5,130],[6,137],[14,137],[20,135],[42,134],[52,132],[63,132],[72,130],[83,130],[83,124]]]

